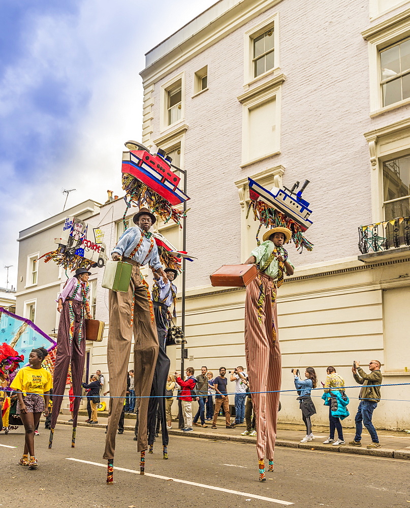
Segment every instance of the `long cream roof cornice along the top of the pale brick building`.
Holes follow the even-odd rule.
[[[175,37],[176,34],[180,30],[188,31],[187,27],[190,25],[188,23],[166,40],[170,41],[172,37],[175,37],[175,46],[140,72],[144,88],[169,75],[186,61],[202,53],[205,49],[213,46],[251,19],[279,4],[279,2],[281,0],[243,0],[222,14],[219,14],[218,10],[215,9],[214,19],[187,39],[178,42]],[[163,41],[151,51],[165,44],[166,41]],[[149,55],[151,51],[146,55]]]

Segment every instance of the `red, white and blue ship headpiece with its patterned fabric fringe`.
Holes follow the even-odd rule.
[[[172,159],[161,149],[152,155],[148,148],[135,141],[127,141],[125,146],[130,149],[122,152],[121,168],[127,207],[132,202],[138,207],[147,204],[165,223],[172,219],[181,226],[184,212],[172,207],[190,198],[178,188],[180,178],[171,170]]]

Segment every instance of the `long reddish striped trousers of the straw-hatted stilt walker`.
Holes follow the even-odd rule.
[[[264,299],[258,316],[258,301],[261,301],[262,291]],[[246,286],[245,355],[251,392],[280,390],[280,347],[278,338],[275,341],[272,338],[272,320],[277,333],[275,297],[276,287],[273,280],[262,272],[258,272],[258,276]],[[279,395],[279,392],[252,394],[258,429],[256,448],[259,459],[273,460]]]

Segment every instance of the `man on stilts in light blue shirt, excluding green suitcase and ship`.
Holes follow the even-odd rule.
[[[148,208],[141,208],[133,217],[136,227],[128,228],[112,251],[114,261],[125,261],[133,265],[127,293],[109,292],[109,334],[107,363],[110,376],[110,403],[106,446],[103,458],[108,459],[107,483],[112,482],[112,463],[115,450],[115,435],[125,397],[125,379],[134,333],[135,395],[139,411],[138,451],[141,452],[141,473],[144,472],[147,444],[147,412],[151,393],[159,342],[154,321],[148,284],[142,278],[140,266],[150,268],[168,282],[163,270],[158,249],[149,232],[155,216]]]

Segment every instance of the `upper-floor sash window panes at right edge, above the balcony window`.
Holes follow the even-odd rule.
[[[383,106],[410,98],[410,39],[380,52]]]

